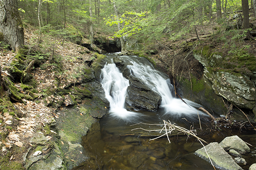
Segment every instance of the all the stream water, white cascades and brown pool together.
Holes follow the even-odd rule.
[[[130,62],[127,68],[132,76],[160,94],[160,108],[156,112],[131,112],[125,109],[129,80],[122,76],[113,63],[113,56],[110,55],[101,75],[102,87],[110,102],[110,114],[100,119],[99,123],[93,125],[90,133],[83,137],[84,147],[93,154],[93,160],[90,165],[78,169],[213,169],[211,164],[193,154],[202,147],[194,137],[173,133],[173,136],[169,137],[169,143],[166,136],[154,139],[163,133],[147,131],[161,130],[163,125],[160,124],[163,124],[163,120],[187,129],[199,129],[198,115],[202,128],[207,129],[210,125],[209,120],[207,115],[198,111],[201,106],[186,99],[185,103],[174,98],[169,77],[155,70],[145,58],[122,56],[120,59]],[[140,122],[146,125],[139,124]],[[197,132],[199,137],[209,143],[221,142],[227,136],[241,136],[241,133],[232,130]],[[241,138],[249,143],[255,142],[255,137],[253,138],[251,133],[255,132],[243,133]]]

